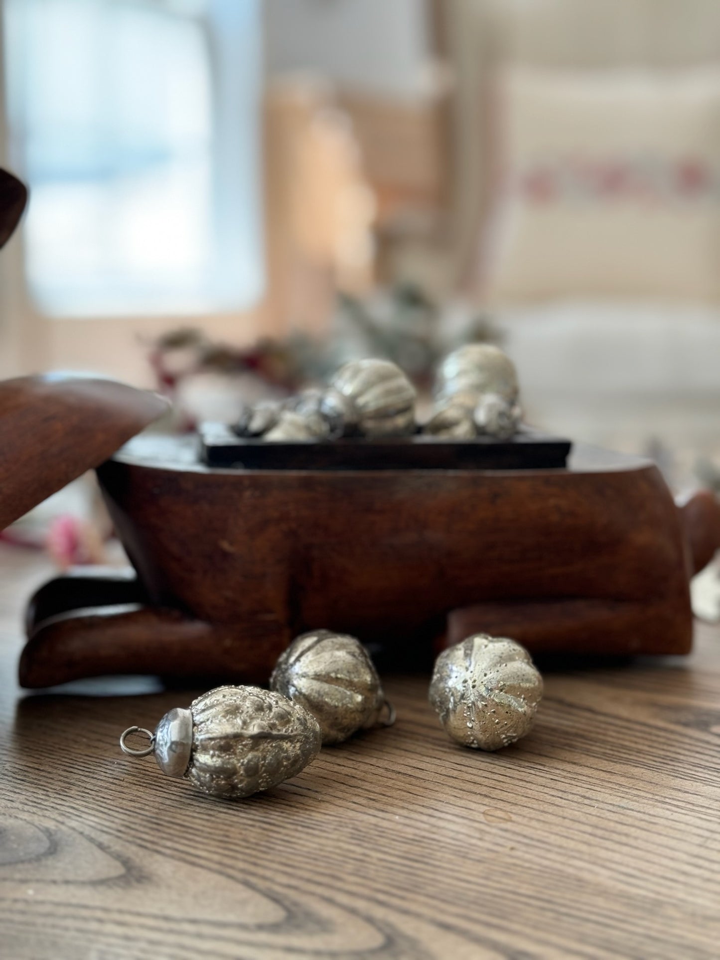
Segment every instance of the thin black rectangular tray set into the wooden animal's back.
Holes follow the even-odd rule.
[[[416,434],[388,440],[320,442],[244,440],[220,423],[200,428],[208,467],[253,470],[507,470],[564,468],[570,441],[523,427],[511,440],[436,440]]]

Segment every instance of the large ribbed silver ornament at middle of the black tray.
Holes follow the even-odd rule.
[[[348,436],[401,437],[415,430],[416,391],[390,360],[353,360],[324,392],[323,413]]]

